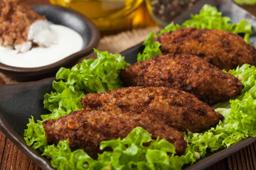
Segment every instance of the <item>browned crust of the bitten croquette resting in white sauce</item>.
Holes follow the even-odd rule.
[[[27,41],[31,24],[45,19],[33,11],[26,0],[0,1],[0,45],[20,45]]]

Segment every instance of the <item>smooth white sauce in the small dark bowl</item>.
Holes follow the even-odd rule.
[[[60,25],[50,25],[55,42],[49,47],[33,47],[28,52],[18,52],[13,47],[0,46],[0,62],[14,67],[42,67],[58,62],[82,49],[82,37],[75,30]]]

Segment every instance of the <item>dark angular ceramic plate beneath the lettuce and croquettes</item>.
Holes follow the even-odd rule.
[[[218,9],[223,12],[223,15],[230,16],[234,22],[240,21],[241,18],[246,18],[255,28],[255,17],[227,0],[225,0],[225,2],[215,0],[200,1],[192,11],[188,11],[188,13],[198,13],[205,3],[217,6]],[[188,13],[184,13],[183,16],[177,18],[176,23],[182,23],[189,18]],[[238,13],[239,15],[237,15]],[[255,38],[256,34],[252,35],[251,40],[254,45]],[[124,55],[127,62],[134,63],[137,60],[136,56],[138,52],[142,52],[143,48],[144,47],[139,44],[122,52],[122,55]],[[31,118],[31,115],[33,115],[35,120],[38,120],[41,119],[40,115],[49,113],[43,109],[43,96],[53,90],[53,79],[54,78],[49,78],[31,83],[0,86],[0,130],[4,132],[6,137],[9,137],[24,154],[36,162],[38,166],[41,166],[42,169],[52,170],[53,167],[50,166],[48,159],[41,157],[38,151],[26,145],[26,142],[23,140],[23,132],[24,129],[26,129],[28,118]],[[242,140],[227,149],[207,154],[206,157],[199,159],[196,164],[186,166],[184,169],[206,169],[255,141],[256,137],[248,137],[246,140]]]

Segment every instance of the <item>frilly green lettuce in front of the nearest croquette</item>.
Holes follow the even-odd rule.
[[[144,143],[149,143],[144,146]],[[196,161],[193,150],[188,147],[186,154],[175,156],[175,147],[162,139],[151,139],[151,134],[141,127],[134,128],[124,139],[102,141],[100,149],[111,147],[112,152],[90,158],[82,149],[71,152],[68,140],[46,147],[43,155],[51,158],[57,169],[181,169],[183,164]],[[157,155],[157,157],[156,157]]]

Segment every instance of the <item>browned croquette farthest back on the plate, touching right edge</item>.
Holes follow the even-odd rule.
[[[163,52],[197,55],[220,69],[256,63],[255,47],[224,30],[180,28],[160,35],[156,41]]]

